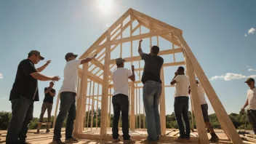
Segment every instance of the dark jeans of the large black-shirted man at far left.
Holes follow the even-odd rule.
[[[12,119],[7,129],[6,143],[23,143],[27,137],[28,125],[33,119],[33,100],[20,97],[11,100]]]

